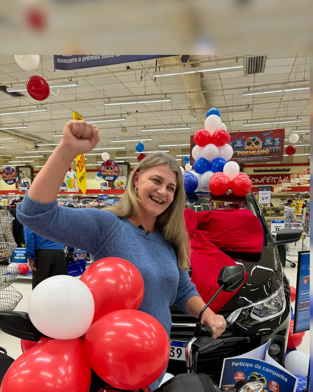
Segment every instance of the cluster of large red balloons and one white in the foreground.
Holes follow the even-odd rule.
[[[80,279],[41,282],[28,313],[49,338],[21,341],[23,354],[7,370],[1,392],[88,392],[91,368],[115,388],[151,385],[167,366],[170,344],[159,321],[137,310],[143,297],[139,270],[120,258],[96,261]]]

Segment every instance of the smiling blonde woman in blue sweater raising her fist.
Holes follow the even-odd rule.
[[[95,125],[68,122],[61,142],[18,205],[17,218],[42,236],[86,250],[93,260],[119,257],[135,265],[144,280],[139,310],[155,317],[169,336],[173,303],[197,318],[205,306],[188,275],[190,245],[180,166],[169,154],[148,154],[131,172],[119,203],[103,210],[59,206],[56,199],[72,160],[98,142]],[[212,328],[214,338],[226,328],[223,316],[210,308],[202,321]],[[152,391],[164,374],[150,385]]]

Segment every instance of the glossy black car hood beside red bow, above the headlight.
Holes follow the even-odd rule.
[[[230,312],[239,307],[248,306],[273,294],[282,283],[282,269],[277,249],[271,244],[263,246],[261,256],[240,257],[230,255],[232,259],[243,267],[248,274],[245,285],[223,307],[222,311]]]

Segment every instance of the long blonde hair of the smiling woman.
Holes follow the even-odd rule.
[[[160,165],[167,165],[176,173],[177,187],[173,202],[156,218],[155,224],[163,234],[164,240],[173,245],[178,260],[178,267],[182,270],[189,270],[190,247],[183,214],[186,196],[183,188],[182,171],[172,156],[164,152],[156,152],[146,156],[131,172],[121,200],[117,204],[106,207],[106,211],[113,212],[119,218],[140,216],[140,200],[137,198],[134,185],[135,174],[137,172],[142,174],[147,169]]]

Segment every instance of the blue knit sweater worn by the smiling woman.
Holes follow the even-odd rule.
[[[38,203],[27,194],[16,208],[16,216],[35,233],[84,249],[94,260],[111,256],[133,263],[144,279],[144,299],[139,310],[160,321],[168,335],[172,323],[169,306],[175,303],[185,312],[187,300],[199,295],[158,229],[146,236],[143,230],[112,212],[62,207],[57,201]],[[158,387],[158,381],[151,385],[152,390]]]

